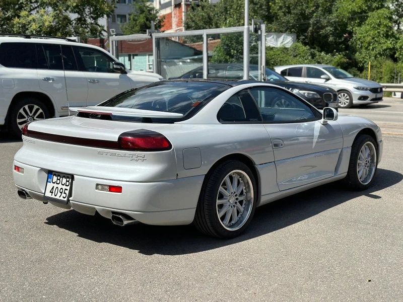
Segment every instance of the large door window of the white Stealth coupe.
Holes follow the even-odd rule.
[[[316,120],[312,109],[291,94],[276,88],[252,88],[263,122],[292,123]]]

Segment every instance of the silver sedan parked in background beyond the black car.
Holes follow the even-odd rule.
[[[355,78],[338,67],[319,64],[277,66],[275,70],[290,81],[320,84],[339,94],[339,108],[368,105],[383,100],[382,86],[374,81]]]

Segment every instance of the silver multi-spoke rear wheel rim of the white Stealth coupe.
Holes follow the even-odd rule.
[[[249,176],[231,171],[222,181],[217,194],[217,215],[225,229],[236,231],[248,220],[253,208],[253,186]]]

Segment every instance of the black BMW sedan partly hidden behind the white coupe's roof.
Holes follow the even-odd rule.
[[[258,78],[258,66],[249,66],[249,79],[256,81]],[[243,65],[234,63],[209,64],[209,79],[217,80],[242,80]],[[190,70],[176,79],[203,79],[203,66]],[[290,82],[282,75],[266,68],[266,82],[278,85],[300,96],[318,109],[333,107],[338,110],[337,92],[331,88],[308,83]]]

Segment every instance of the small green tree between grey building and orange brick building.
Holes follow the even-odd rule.
[[[146,33],[151,29],[151,21],[156,30],[161,29],[164,18],[158,17],[159,10],[154,9],[149,0],[133,1],[131,8],[128,22],[120,26],[124,35]]]

